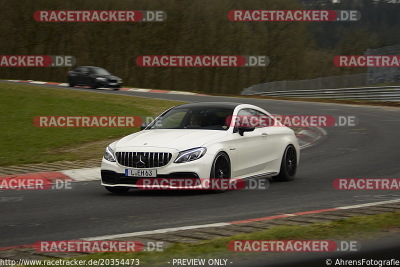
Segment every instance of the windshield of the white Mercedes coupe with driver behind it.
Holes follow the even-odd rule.
[[[230,121],[226,118],[232,112],[232,108],[218,107],[172,108],[154,120],[150,129],[227,130]]]

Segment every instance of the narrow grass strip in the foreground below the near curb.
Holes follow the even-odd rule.
[[[397,228],[398,225],[400,225],[400,212],[383,213],[351,217],[328,223],[314,223],[306,226],[276,226],[267,230],[211,239],[197,244],[175,243],[162,252],[93,253],[76,257],[76,259],[137,258],[140,261],[140,266],[171,265],[167,264],[167,262],[171,262],[173,258],[223,257],[228,258],[229,261],[234,261],[242,258],[254,258],[257,256],[265,257],[267,254],[263,252],[231,252],[227,248],[227,243],[231,240],[339,240],[342,238],[343,240],[348,240],[348,238],[351,238],[351,240],[360,241],[381,236],[382,233]],[[132,237],[132,240],[134,240],[134,237]],[[270,253],[271,252],[269,252],[269,254]],[[51,256],[51,253],[49,253],[48,256]]]

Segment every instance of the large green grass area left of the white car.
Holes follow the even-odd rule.
[[[36,127],[35,116],[155,116],[182,103],[20,83],[0,83],[0,99],[1,166],[101,158],[104,145],[138,130],[137,127]],[[98,141],[100,147],[96,145]]]

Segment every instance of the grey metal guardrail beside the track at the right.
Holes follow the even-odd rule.
[[[357,87],[338,89],[286,90],[249,93],[247,95],[267,95],[298,98],[327,98],[371,101],[400,101],[400,86]]]

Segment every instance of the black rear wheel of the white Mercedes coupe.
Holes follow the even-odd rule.
[[[284,149],[282,161],[280,163],[280,171],[276,176],[272,176],[274,181],[291,181],[296,176],[297,170],[297,154],[292,144]]]

